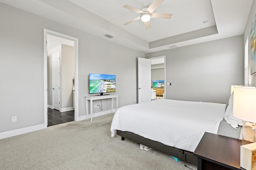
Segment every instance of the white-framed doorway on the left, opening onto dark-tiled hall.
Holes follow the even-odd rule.
[[[71,45],[70,45],[71,44]],[[73,44],[73,45],[72,45]],[[62,65],[62,62],[64,63],[64,55],[62,55],[62,48],[64,49],[64,47],[71,47],[73,46],[73,63],[70,66],[66,66],[65,64]],[[56,52],[53,53],[53,51],[50,52],[51,49],[56,48]],[[66,53],[66,51],[64,51]],[[63,53],[64,53],[63,52]],[[58,55],[59,53],[59,59],[60,61],[58,61],[56,55]],[[49,59],[49,56],[50,59]],[[55,63],[60,63],[60,83],[59,86],[56,87],[57,89],[59,89],[60,91],[55,91],[55,86],[56,83],[53,83],[54,78],[58,80],[58,67],[56,67],[55,71],[51,71],[51,73],[49,74],[49,69],[52,70],[54,67],[52,67],[52,57],[54,57],[54,62]],[[68,59],[68,57],[66,57]],[[66,60],[66,59],[65,59]],[[65,61],[66,63],[69,63],[70,61]],[[49,64],[50,63],[50,64]],[[56,66],[56,64],[54,64]],[[58,64],[57,64],[58,65]],[[64,70],[64,68],[72,68],[72,71],[65,71],[65,73],[63,73],[63,76],[61,76],[61,72],[62,70]],[[52,73],[55,72],[55,75]],[[72,79],[70,79],[70,72],[73,72],[72,74]],[[61,79],[63,78],[64,80],[66,78],[64,78],[65,76],[69,76],[68,78],[68,83],[66,82],[61,82]],[[63,80],[62,80],[63,81]],[[62,89],[62,84],[63,86],[66,86],[67,84],[70,85],[70,83],[72,83],[72,87],[70,87],[70,90],[68,90],[68,92],[64,93],[64,89]],[[58,83],[57,83],[58,85]],[[57,93],[58,92],[58,93]],[[53,95],[53,94],[56,95]],[[63,99],[63,97],[65,97],[65,95],[68,95],[68,99],[72,98],[72,101],[65,101],[65,98]],[[56,98],[56,101],[54,100],[54,98]],[[69,104],[69,106],[62,106],[62,100],[64,100],[65,104],[66,103],[72,103]],[[54,102],[56,106],[54,106]],[[73,102],[74,101],[74,102]],[[59,106],[57,106],[59,102]],[[71,106],[71,107],[70,107]],[[58,108],[59,107],[59,108]],[[54,113],[57,114],[57,111],[59,113],[66,113],[69,114],[68,112],[72,112],[73,110],[73,115],[74,115],[74,121],[78,121],[78,39],[77,38],[73,38],[64,34],[60,34],[57,32],[53,32],[51,30],[46,30],[44,29],[44,127],[47,128],[48,126],[48,116],[49,117],[56,117],[56,115],[54,115],[54,113],[52,113],[52,115],[48,115],[48,111],[49,109],[53,109],[54,108]],[[59,114],[58,113],[58,114]],[[57,117],[64,117],[62,115],[58,115]],[[58,123],[60,124],[60,123]]]

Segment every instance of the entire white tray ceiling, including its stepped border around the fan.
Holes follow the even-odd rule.
[[[152,18],[147,30],[141,20],[123,25],[139,14],[122,6],[128,4],[141,10],[143,2],[153,1],[0,0],[144,53],[242,35],[253,0],[165,0],[154,12],[171,13],[171,19]]]

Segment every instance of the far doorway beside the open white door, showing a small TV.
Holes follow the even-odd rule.
[[[151,59],[151,99],[166,98],[165,56]]]

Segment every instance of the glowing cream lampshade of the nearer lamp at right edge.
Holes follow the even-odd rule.
[[[256,123],[256,87],[234,87],[233,116]]]

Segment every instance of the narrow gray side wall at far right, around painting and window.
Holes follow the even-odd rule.
[[[251,43],[250,43],[250,27],[251,27],[251,24],[252,24],[252,21],[253,21],[253,18],[256,14],[256,0],[254,0],[252,2],[252,8],[250,10],[250,14],[249,14],[249,17],[248,17],[248,21],[247,21],[247,24],[246,24],[246,28],[245,28],[245,31],[244,31],[244,42],[246,42],[246,39],[248,37],[248,70],[249,70],[249,76],[248,76],[248,79],[249,79],[249,82],[248,82],[248,86],[256,86],[256,73],[251,75],[250,73],[250,70],[251,70],[251,63],[252,63],[252,60],[251,60],[251,53],[250,53],[250,46],[251,46]]]

